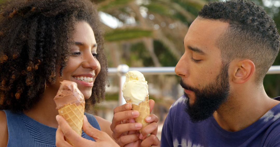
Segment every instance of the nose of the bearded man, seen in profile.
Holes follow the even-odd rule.
[[[180,77],[186,77],[188,75],[188,60],[186,58],[186,55],[184,54],[180,60],[178,61],[176,67],[175,67],[175,73],[179,75]]]

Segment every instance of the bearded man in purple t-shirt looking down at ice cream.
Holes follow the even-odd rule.
[[[254,3],[205,5],[184,39],[175,68],[184,95],[169,110],[161,146],[280,146],[280,97],[263,88],[279,44],[274,21]]]

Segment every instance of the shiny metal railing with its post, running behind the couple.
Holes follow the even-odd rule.
[[[144,75],[175,75],[175,67],[129,67],[128,65],[121,64],[117,68],[108,68],[108,75],[118,75],[119,82],[119,104],[125,104],[122,93],[122,85],[125,82],[125,73],[130,70],[137,70]],[[280,65],[271,66],[267,74],[280,74]]]

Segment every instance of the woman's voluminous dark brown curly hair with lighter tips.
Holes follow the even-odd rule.
[[[32,108],[62,76],[78,21],[92,27],[101,65],[87,106],[104,99],[108,69],[97,7],[89,0],[12,0],[0,5],[0,110]]]

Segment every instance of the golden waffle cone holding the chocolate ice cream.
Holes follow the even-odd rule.
[[[76,103],[67,104],[58,109],[59,115],[63,116],[69,126],[80,136],[82,135],[83,116],[85,112],[85,102],[80,103],[78,106]],[[73,146],[71,141],[66,138],[66,141]]]

